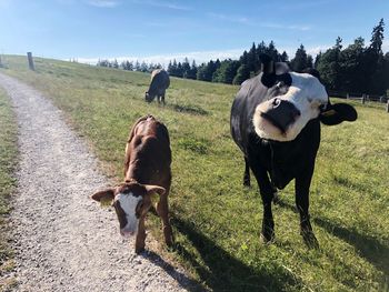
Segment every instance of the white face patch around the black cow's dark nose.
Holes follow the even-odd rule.
[[[271,107],[273,99],[260,103],[253,114],[253,125],[257,134],[263,139],[276,141],[295,140],[310,120],[319,117],[320,104],[328,102],[326,89],[317,78],[296,72],[290,72],[290,77],[292,82],[288,92],[276,98],[291,102],[301,114],[282,132],[261,117],[261,113]]]

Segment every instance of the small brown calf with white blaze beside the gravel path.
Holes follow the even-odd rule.
[[[168,207],[170,163],[168,129],[152,115],[143,117],[133,125],[126,145],[124,182],[91,197],[96,201],[112,201],[120,233],[137,234],[137,253],[144,250],[144,219],[154,193],[159,194],[157,213],[162,220],[164,241],[168,245],[173,242]]]

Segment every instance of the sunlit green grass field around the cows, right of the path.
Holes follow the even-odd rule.
[[[159,107],[143,100],[149,74],[39,58],[32,72],[24,58],[2,60],[8,69],[1,72],[52,98],[118,181],[132,123],[151,113],[167,124],[177,239],[170,253],[210,290],[389,290],[389,114],[383,107],[353,103],[357,122],[322,127],[310,195],[320,249],[308,250],[299,235],[293,183],[275,207],[276,242],[263,245],[258,188],[242,187],[243,159],[229,132],[237,87],[172,78],[167,105]],[[152,217],[151,225],[161,239]]]

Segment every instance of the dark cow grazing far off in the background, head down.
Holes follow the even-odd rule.
[[[170,85],[170,78],[166,70],[156,69],[151,73],[151,82],[149,90],[146,91],[144,99],[151,102],[157,98],[158,103],[162,101],[164,104],[164,93]]]

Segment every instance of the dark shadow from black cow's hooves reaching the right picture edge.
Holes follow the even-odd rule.
[[[337,238],[353,245],[362,258],[389,276],[388,245],[383,245],[372,236],[360,234],[355,230],[346,229],[326,219],[316,218],[313,222]]]

